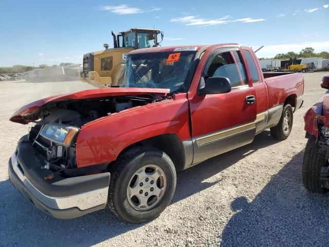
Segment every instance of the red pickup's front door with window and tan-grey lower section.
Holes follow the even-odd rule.
[[[227,77],[232,90],[195,95],[190,100],[193,164],[251,143],[255,135],[255,91],[246,77],[239,49],[212,52],[202,77]],[[253,99],[253,100],[252,100]]]

